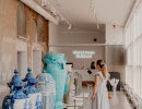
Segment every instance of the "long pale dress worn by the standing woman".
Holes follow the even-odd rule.
[[[95,75],[99,75],[99,85],[95,98],[92,101],[92,109],[110,109],[108,90],[106,87],[108,78],[105,78],[102,72],[97,72]]]

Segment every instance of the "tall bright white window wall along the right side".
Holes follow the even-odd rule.
[[[142,3],[125,28],[127,47],[126,81],[142,98]]]

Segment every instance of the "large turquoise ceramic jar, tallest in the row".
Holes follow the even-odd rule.
[[[63,53],[48,53],[44,60],[44,70],[56,81],[56,108],[63,109],[63,94],[67,78],[67,59]]]

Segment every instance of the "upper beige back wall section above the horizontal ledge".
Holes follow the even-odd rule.
[[[82,27],[72,27],[68,29],[68,26],[56,26],[52,23],[49,24],[50,45],[62,44],[105,44],[105,25],[104,28],[98,31],[87,29]],[[97,41],[94,41],[94,38]]]

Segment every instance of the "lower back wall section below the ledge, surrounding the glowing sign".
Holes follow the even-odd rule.
[[[92,59],[76,59],[72,53],[73,50],[93,50],[96,53]],[[68,62],[72,62],[74,65],[73,69],[75,70],[81,69],[83,65],[87,69],[91,66],[92,61],[105,59],[105,47],[50,47],[49,51],[54,53],[66,53]]]

